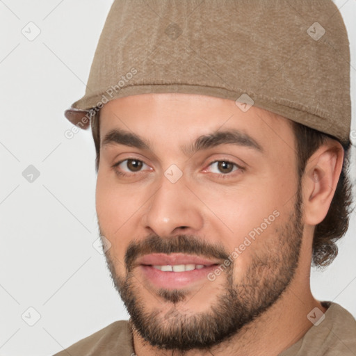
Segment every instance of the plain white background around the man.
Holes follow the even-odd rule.
[[[0,0],[2,356],[53,355],[128,318],[104,257],[92,246],[98,232],[91,133],[64,136],[72,126],[63,112],[85,91],[111,3]],[[355,130],[356,1],[336,3],[351,42]],[[41,31],[33,41],[22,34],[29,22]],[[29,165],[40,172],[33,183],[22,176]],[[355,165],[353,173],[355,180]],[[338,302],[354,316],[355,220],[334,263],[312,273],[316,298]],[[37,313],[39,321],[29,326]]]

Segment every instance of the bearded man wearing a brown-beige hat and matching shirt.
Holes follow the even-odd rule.
[[[309,282],[348,227],[348,60],[332,1],[114,1],[66,116],[131,318],[57,355],[356,355]]]

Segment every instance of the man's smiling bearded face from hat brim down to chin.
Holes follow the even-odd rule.
[[[100,232],[143,339],[210,347],[280,298],[302,239],[288,120],[216,97],[134,95],[104,106],[100,139]]]

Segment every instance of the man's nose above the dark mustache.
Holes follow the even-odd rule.
[[[145,211],[145,229],[159,236],[196,233],[203,226],[200,204],[184,179],[172,183],[163,177]]]

